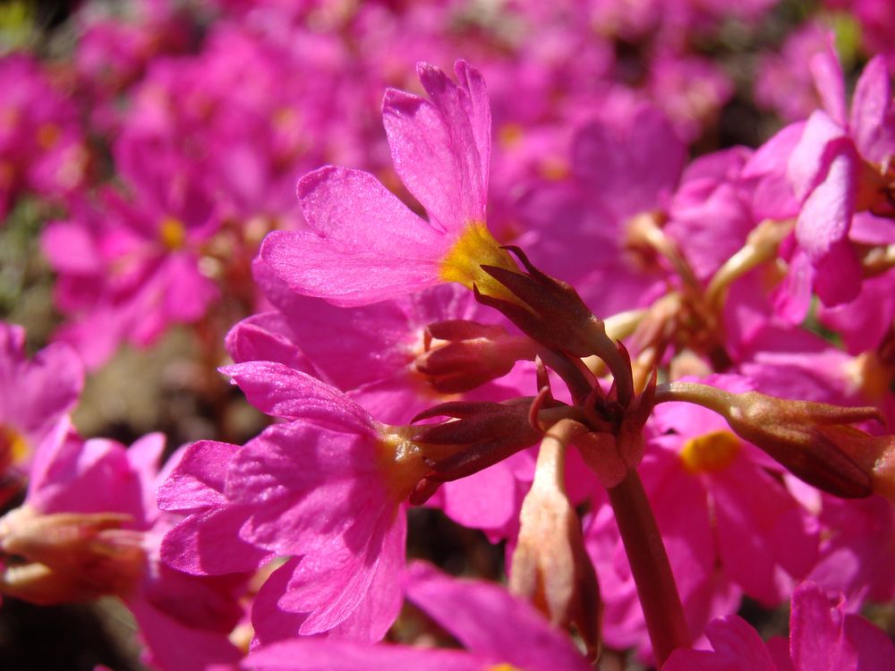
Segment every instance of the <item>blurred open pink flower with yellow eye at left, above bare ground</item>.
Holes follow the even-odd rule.
[[[199,268],[218,224],[199,175],[172,152],[149,155],[131,141],[115,149],[132,197],[104,191],[101,208],[82,204],[41,241],[59,274],[56,304],[71,319],[57,337],[90,368],[123,341],[147,346],[169,324],[200,319],[217,297]]]

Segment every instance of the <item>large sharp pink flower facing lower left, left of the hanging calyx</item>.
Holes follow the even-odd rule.
[[[401,603],[402,502],[428,466],[412,444],[319,380],[263,361],[226,372],[251,403],[289,421],[230,454],[219,444],[191,447],[160,494],[166,509],[190,513],[162,556],[191,573],[294,556],[253,611],[261,640],[277,638],[283,618],[296,621],[293,634],[340,627],[379,640]],[[243,542],[228,539],[233,532]]]

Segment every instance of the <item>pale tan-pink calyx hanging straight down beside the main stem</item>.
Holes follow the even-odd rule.
[[[563,483],[567,441],[586,431],[560,420],[541,441],[532,488],[519,516],[509,590],[559,626],[574,624],[592,654],[600,644],[600,587]]]

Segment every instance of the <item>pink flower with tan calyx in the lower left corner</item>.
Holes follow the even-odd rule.
[[[130,448],[73,434],[45,443],[24,505],[0,520],[0,553],[21,558],[0,575],[0,590],[38,604],[112,595],[132,610],[147,663],[232,664],[240,653],[227,636],[243,615],[236,599],[246,576],[196,577],[158,558],[173,523],[155,505],[164,444],[158,434]]]

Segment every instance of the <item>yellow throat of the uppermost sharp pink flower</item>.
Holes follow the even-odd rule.
[[[482,266],[506,268],[514,273],[519,268],[507,251],[490,234],[488,227],[482,223],[466,226],[465,231],[447,251],[441,261],[441,279],[445,282],[459,282],[461,285],[505,301],[519,302],[516,297],[496,279],[482,270]]]

